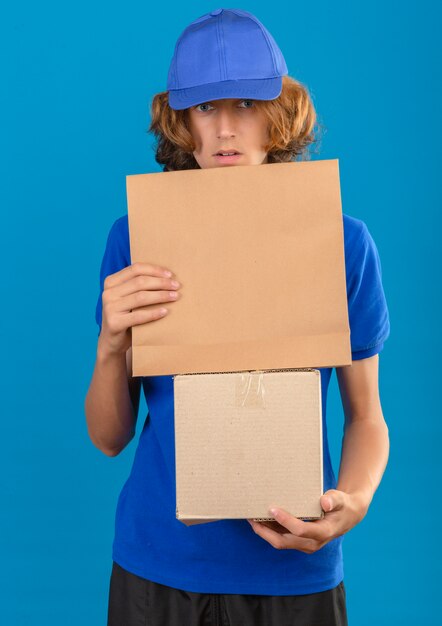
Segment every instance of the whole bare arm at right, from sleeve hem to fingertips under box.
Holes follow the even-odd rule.
[[[385,470],[388,428],[378,388],[379,355],[336,369],[345,412],[345,433],[337,487],[320,498],[320,520],[300,520],[273,507],[276,521],[247,520],[256,534],[279,550],[292,548],[311,554],[356,526],[367,514]]]

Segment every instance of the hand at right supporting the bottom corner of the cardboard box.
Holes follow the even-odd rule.
[[[257,535],[278,550],[292,549],[312,554],[326,543],[348,532],[366,515],[368,505],[357,493],[337,489],[326,491],[320,498],[325,513],[320,520],[303,521],[284,509],[272,507],[275,522],[247,521]]]

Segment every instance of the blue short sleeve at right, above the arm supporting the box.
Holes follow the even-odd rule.
[[[390,334],[379,253],[365,223],[357,223],[360,232],[346,260],[352,360],[379,353]]]

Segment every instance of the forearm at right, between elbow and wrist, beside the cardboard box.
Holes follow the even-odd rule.
[[[336,488],[357,494],[368,509],[387,466],[389,448],[388,428],[382,413],[349,421]]]

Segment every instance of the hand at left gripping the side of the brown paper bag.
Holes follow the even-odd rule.
[[[170,273],[170,277],[167,276]],[[173,302],[179,298],[180,283],[173,272],[152,263],[133,263],[104,281],[102,325],[98,343],[107,353],[123,353],[132,342],[132,326],[154,322],[168,313],[161,306],[139,307]]]

